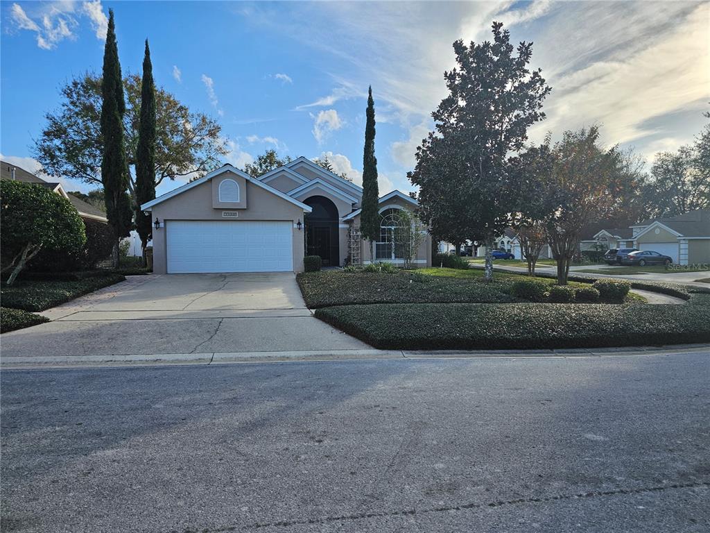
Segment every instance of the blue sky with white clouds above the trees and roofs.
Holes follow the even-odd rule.
[[[533,141],[597,123],[606,144],[650,159],[691,142],[709,109],[708,3],[2,1],[5,160],[36,169],[31,145],[59,87],[101,69],[109,8],[124,72],[141,71],[148,38],[156,82],[219,120],[238,166],[274,147],[327,153],[359,183],[371,84],[383,193],[412,189],[406,173],[445,94],[452,42],[489,38],[493,20],[535,43],[532,65],[553,89]]]

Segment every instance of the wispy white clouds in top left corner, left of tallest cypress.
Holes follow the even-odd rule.
[[[53,50],[65,39],[77,38],[78,17],[88,18],[97,38],[104,41],[109,19],[104,14],[101,0],[85,1],[77,9],[75,1],[36,2],[25,11],[19,4],[12,4],[11,19],[16,28],[33,31],[37,45],[44,50]]]

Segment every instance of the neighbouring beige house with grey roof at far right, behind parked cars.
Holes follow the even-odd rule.
[[[582,241],[608,248],[636,248],[667,255],[675,264],[710,264],[710,209],[644,220],[627,229],[601,230]]]

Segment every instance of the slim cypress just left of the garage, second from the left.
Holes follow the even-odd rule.
[[[141,236],[143,259],[146,246],[153,233],[151,215],[143,214],[141,205],[155,198],[155,83],[151,50],[146,39],[141,85],[141,117],[138,124],[138,149],[136,149],[136,230]]]

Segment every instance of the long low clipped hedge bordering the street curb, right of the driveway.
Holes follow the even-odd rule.
[[[409,303],[339,306],[315,316],[388,350],[593,348],[710,342],[704,305]]]

